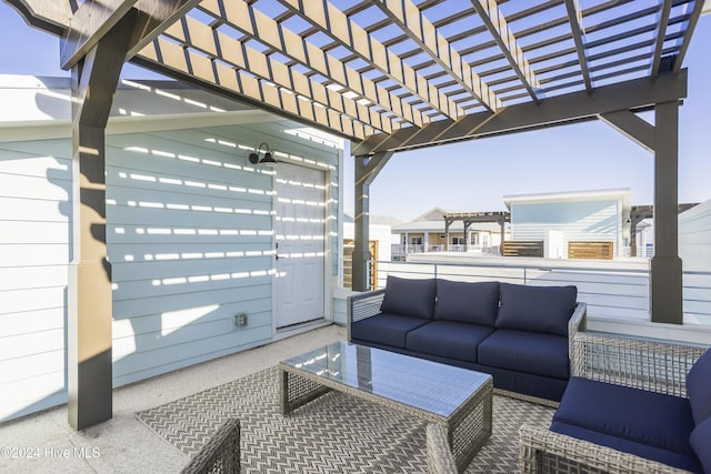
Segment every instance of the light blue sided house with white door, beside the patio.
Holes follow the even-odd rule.
[[[67,402],[69,81],[0,77],[0,421]],[[260,143],[273,168],[250,163]],[[121,83],[97,230],[112,270],[114,386],[331,320],[343,147],[176,82]]]

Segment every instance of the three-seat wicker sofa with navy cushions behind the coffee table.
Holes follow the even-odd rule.
[[[352,343],[489,373],[494,387],[557,405],[570,341],[584,330],[575,286],[388,276],[349,296]]]

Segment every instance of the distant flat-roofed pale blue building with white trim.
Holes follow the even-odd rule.
[[[630,239],[630,198],[629,189],[614,189],[508,195],[503,201],[514,242],[541,242],[542,256],[565,259],[574,245],[590,242],[621,256]]]

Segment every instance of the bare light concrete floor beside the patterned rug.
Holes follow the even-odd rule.
[[[220,385],[336,340],[328,325],[278,342],[119,387],[113,418],[77,432],[58,406],[0,424],[0,473],[176,473],[188,457],[143,425],[136,412]]]

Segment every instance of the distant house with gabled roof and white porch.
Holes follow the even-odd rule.
[[[495,222],[471,224],[464,235],[464,225],[454,221],[447,232],[444,216],[451,214],[441,208],[432,208],[413,221],[393,225],[398,244],[392,245],[393,260],[404,260],[409,253],[422,252],[484,252],[498,253],[501,244],[501,225]]]

